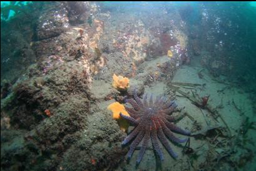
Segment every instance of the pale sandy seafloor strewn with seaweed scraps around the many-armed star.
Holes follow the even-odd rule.
[[[167,59],[166,56],[158,57],[157,59],[153,61],[147,61],[145,62],[144,66],[153,66],[155,65],[156,61],[165,61]],[[182,66],[180,69],[177,70],[177,73],[173,77],[172,82],[184,82],[184,83],[193,83],[193,84],[205,84],[204,88],[195,88],[197,90],[197,94],[200,97],[203,97],[205,95],[210,95],[208,104],[217,107],[222,106],[220,109],[217,109],[219,114],[222,115],[225,122],[227,122],[228,127],[230,127],[232,131],[232,137],[239,136],[240,129],[242,127],[243,120],[245,120],[246,117],[249,117],[250,122],[255,122],[256,119],[253,117],[253,109],[252,109],[252,102],[250,99],[248,99],[248,94],[243,92],[242,89],[237,89],[235,87],[232,87],[228,84],[227,81],[225,81],[225,77],[221,77],[222,80],[216,80],[214,77],[210,76],[210,74],[204,69],[202,71],[203,79],[200,79],[198,77],[198,72],[201,71],[203,68],[198,65],[197,61],[193,62],[191,66]],[[140,83],[140,75],[135,77],[135,79],[131,79],[131,84],[139,84]],[[137,79],[136,79],[137,78]],[[93,84],[93,89],[99,90],[100,87],[104,87],[102,90],[105,92],[105,90],[108,88],[110,89],[110,84],[103,84],[101,81],[95,81]],[[168,81],[167,81],[168,82]],[[95,85],[95,87],[94,87]],[[154,84],[149,86],[145,86],[145,94],[168,94],[168,85],[166,85],[166,82],[155,82]],[[185,89],[182,89],[185,90]],[[185,92],[190,91],[191,89],[185,90]],[[220,91],[221,90],[221,91]],[[218,92],[220,91],[220,92]],[[104,94],[103,92],[97,91],[97,94]],[[207,110],[203,110],[198,108],[197,106],[193,105],[190,100],[188,100],[185,97],[182,97],[182,95],[177,93],[176,99],[178,107],[185,107],[185,111],[195,119],[198,124],[201,126],[202,130],[207,129],[207,127],[217,127],[217,126],[223,126],[222,120],[219,118],[217,120],[213,119],[212,114],[210,114]],[[236,107],[233,105],[233,102],[235,102],[235,105],[238,109],[241,109],[243,114],[239,112]],[[110,102],[107,102],[105,106],[111,104],[112,100]],[[203,117],[202,111],[205,114],[205,117]],[[111,113],[110,113],[111,114]],[[206,119],[206,120],[205,120]],[[208,122],[208,126],[207,126]],[[189,117],[185,116],[183,119],[179,120],[177,123],[178,126],[181,128],[185,128],[188,130],[192,130],[192,132],[196,132],[193,127],[193,120]],[[131,130],[131,129],[129,129]],[[184,135],[178,135],[180,138],[184,138],[186,136]],[[252,140],[255,142],[255,130],[249,129],[247,132],[247,139]],[[182,154],[182,147],[178,147],[177,145],[172,144],[172,142],[169,142],[171,147],[175,152],[178,154],[178,159],[173,159],[168,152],[164,149],[163,146],[161,146],[161,149],[163,150],[163,154],[165,155],[165,160],[163,162],[160,162],[159,159],[156,159],[156,155],[154,154],[153,150],[148,149],[145,152],[145,155],[143,157],[143,160],[141,161],[139,166],[136,166],[136,158],[138,156],[139,150],[135,150],[133,157],[129,162],[125,161],[120,164],[118,169],[116,170],[197,170],[197,165],[201,164],[203,161],[207,159],[208,150],[209,150],[209,144],[208,144],[208,138],[206,139],[195,139],[193,136],[190,137],[190,147],[192,149],[197,149],[198,159],[193,162],[193,166],[191,164],[190,156]],[[234,140],[232,139],[234,142]],[[184,144],[183,144],[184,145]],[[255,148],[252,144],[247,144],[246,148],[252,149],[253,153],[255,153]],[[219,147],[215,149],[216,154],[222,156],[225,154],[225,150],[228,150],[229,147]],[[242,155],[243,149],[235,149],[237,156],[237,159],[239,158],[239,155]],[[241,150],[241,152],[237,152],[237,150]],[[233,155],[233,154],[230,154]],[[234,157],[235,157],[234,155]],[[229,156],[229,155],[228,155]],[[213,159],[210,157],[210,159]],[[250,157],[249,157],[250,158]],[[248,159],[246,159],[248,160]],[[243,170],[255,170],[255,158],[253,157],[250,162],[243,168]],[[215,166],[216,167],[216,166]],[[218,166],[217,166],[218,168]],[[224,164],[222,167],[218,168],[219,170],[233,170],[230,165]]]

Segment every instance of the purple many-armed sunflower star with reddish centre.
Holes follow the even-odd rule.
[[[187,142],[188,139],[178,139],[172,134],[171,130],[183,135],[190,135],[190,132],[188,130],[180,129],[171,123],[175,120],[175,117],[168,114],[173,112],[177,107],[175,102],[167,102],[165,97],[156,97],[155,102],[153,102],[152,95],[149,101],[147,100],[147,95],[145,95],[143,100],[141,100],[136,94],[136,90],[133,92],[133,97],[135,100],[126,100],[126,102],[133,106],[133,109],[125,107],[127,112],[130,114],[130,117],[120,113],[120,116],[123,117],[123,119],[126,119],[132,125],[135,125],[135,129],[133,129],[122,142],[122,145],[126,145],[134,139],[133,142],[131,142],[130,150],[127,154],[128,159],[131,158],[136,146],[140,144],[142,140],[141,149],[136,160],[136,164],[140,164],[150,138],[153,148],[161,160],[163,160],[164,157],[163,152],[160,149],[160,145],[158,144],[158,139],[168,153],[176,159],[178,155],[173,152],[172,148],[168,144],[167,138],[175,143]]]

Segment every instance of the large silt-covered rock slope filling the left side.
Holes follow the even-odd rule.
[[[36,64],[12,89],[1,89],[1,169],[112,169],[126,154],[120,148],[125,134],[91,93],[93,75],[106,65],[103,50],[96,53],[104,22],[86,22],[94,3],[83,2],[81,9],[81,2],[51,3],[38,14],[36,37],[17,47],[26,44],[29,49],[19,53],[24,59],[32,53]]]

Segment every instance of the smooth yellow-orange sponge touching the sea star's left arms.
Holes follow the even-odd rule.
[[[113,112],[113,119],[118,121],[118,125],[120,125],[120,129],[124,132],[128,129],[129,123],[120,117],[120,113],[123,115],[130,116],[128,112],[125,110],[125,106],[120,104],[119,102],[114,102],[108,106],[108,110]]]

